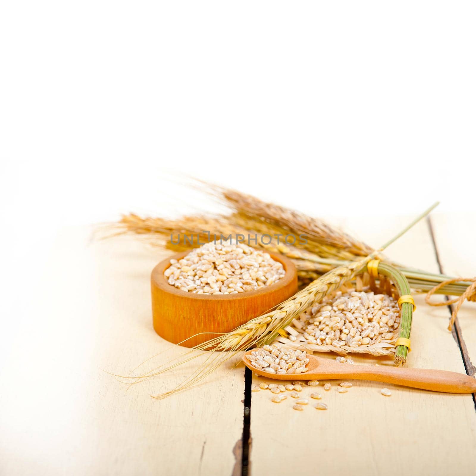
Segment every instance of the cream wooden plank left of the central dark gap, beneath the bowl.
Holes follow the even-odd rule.
[[[127,374],[158,352],[149,367],[181,352],[152,328],[149,276],[161,256],[137,239],[86,247],[88,237],[63,233],[31,286],[36,310],[3,374],[0,472],[231,475],[236,465],[239,474],[244,369],[161,401],[149,395],[192,366],[126,391],[102,369]]]

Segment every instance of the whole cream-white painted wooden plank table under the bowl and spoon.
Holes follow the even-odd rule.
[[[364,216],[339,224],[378,246],[407,221]],[[476,275],[474,223],[434,214],[431,227],[419,223],[387,255]],[[320,387],[327,411],[297,412],[291,398],[276,405],[268,391],[251,393],[258,379],[230,365],[188,392],[150,398],[196,363],[120,384],[107,372],[126,375],[163,352],[148,370],[181,352],[151,325],[149,273],[163,255],[129,237],[90,243],[89,231],[58,236],[47,271],[18,303],[28,318],[3,349],[1,475],[475,474],[473,395],[387,385],[387,398],[381,384],[356,381],[346,394]],[[429,307],[423,296],[416,303],[407,365],[474,373],[476,305],[464,304],[451,334],[446,306]]]

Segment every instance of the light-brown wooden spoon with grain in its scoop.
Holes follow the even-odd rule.
[[[246,356],[252,349],[243,354],[245,365],[258,375],[276,380],[333,380],[357,379],[377,380],[389,384],[405,385],[407,387],[422,388],[435,392],[452,394],[472,394],[476,392],[476,379],[469,375],[448,372],[446,370],[409,369],[402,367],[385,367],[375,365],[350,365],[333,360],[307,355],[309,369],[305,374],[278,375],[259,370],[251,365]]]

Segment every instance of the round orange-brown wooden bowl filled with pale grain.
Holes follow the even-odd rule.
[[[297,292],[297,271],[291,261],[280,255],[269,253],[275,261],[282,263],[286,274],[277,283],[264,286],[257,291],[239,294],[195,294],[185,293],[171,286],[164,276],[170,259],[179,260],[189,251],[177,253],[160,262],[152,271],[152,318],[154,329],[169,342],[178,344],[192,335],[185,347],[218,337],[216,333],[230,332],[253,317],[266,313],[277,304],[286,301]]]

